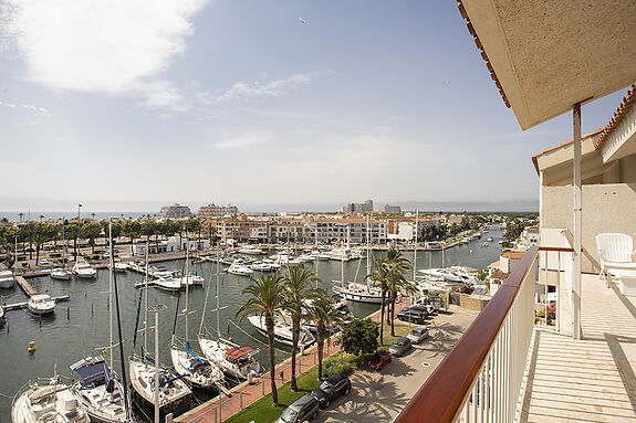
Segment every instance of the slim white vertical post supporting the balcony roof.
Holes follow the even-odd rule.
[[[574,254],[572,255],[572,337],[581,339],[581,103],[572,108],[574,130]]]

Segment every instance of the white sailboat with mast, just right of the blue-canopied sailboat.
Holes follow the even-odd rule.
[[[148,250],[146,248],[146,252]],[[148,254],[146,253],[146,268],[148,266]],[[155,357],[148,356],[148,273],[144,278],[144,347],[142,356],[133,353],[128,360],[131,370],[131,384],[140,402],[155,408],[155,421],[158,421],[159,412],[174,415],[183,414],[190,408],[192,391],[183,380],[166,366],[159,366],[159,319],[160,307],[155,306]],[[139,321],[139,308],[142,306],[142,293],[139,293],[139,304],[137,307],[137,321],[135,322],[135,336],[133,339],[133,351],[137,341],[137,325]],[[164,306],[165,308],[165,306]]]

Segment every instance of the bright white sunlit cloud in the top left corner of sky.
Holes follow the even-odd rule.
[[[160,80],[186,51],[191,18],[208,0],[7,0],[4,38],[28,77],[54,91],[140,94],[149,107],[183,96]]]

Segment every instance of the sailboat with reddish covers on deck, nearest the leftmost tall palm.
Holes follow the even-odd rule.
[[[208,304],[208,295],[210,292],[211,283],[208,285],[206,292],[206,303],[204,304],[204,313],[201,315],[201,324],[199,326],[199,347],[204,352],[204,356],[212,363],[217,364],[222,371],[230,378],[238,380],[246,380],[248,376],[258,376],[261,371],[261,366],[256,360],[254,356],[259,353],[259,350],[254,350],[250,347],[241,347],[234,342],[231,342],[221,337],[220,330],[220,267],[219,255],[217,254],[217,337],[216,339],[207,337],[204,335],[204,318],[206,316],[206,307]]]

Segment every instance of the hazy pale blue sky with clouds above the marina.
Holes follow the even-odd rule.
[[[0,0],[0,211],[536,208],[571,134],[520,129],[452,1]]]

